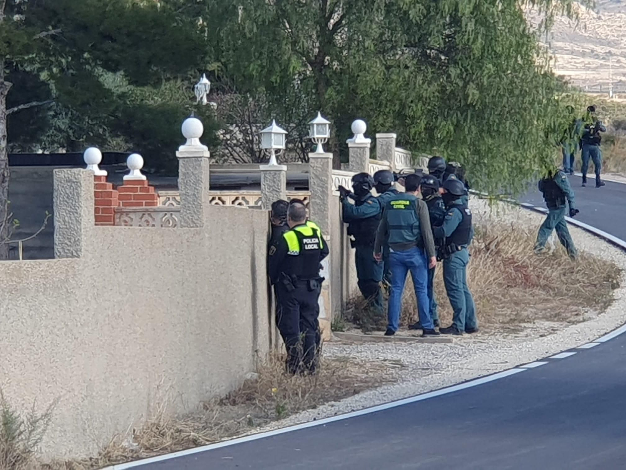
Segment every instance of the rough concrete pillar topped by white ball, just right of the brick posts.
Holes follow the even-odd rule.
[[[183,122],[185,145],[178,147],[178,191],[180,192],[180,216],[182,228],[204,226],[205,209],[209,205],[209,157],[206,145],[200,143],[204,132],[202,122],[188,118]]]

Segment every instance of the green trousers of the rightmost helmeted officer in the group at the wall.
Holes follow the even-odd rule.
[[[469,253],[461,249],[443,260],[443,283],[454,310],[453,322],[459,332],[478,328],[474,298],[468,288],[467,265]]]

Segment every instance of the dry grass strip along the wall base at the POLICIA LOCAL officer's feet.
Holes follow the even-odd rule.
[[[211,444],[250,432],[295,412],[341,400],[385,383],[387,379],[381,382],[381,377],[391,377],[384,365],[366,364],[350,358],[322,358],[317,375],[292,377],[284,373],[284,360],[282,355],[275,355],[239,389],[203,403],[197,412],[177,417],[163,405],[143,426],[132,429],[126,436],[116,436],[92,459],[53,462],[39,468],[96,469]]]

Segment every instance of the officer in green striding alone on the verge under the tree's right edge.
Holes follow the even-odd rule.
[[[557,231],[557,236],[561,244],[567,250],[570,258],[577,256],[576,247],[570,236],[565,222],[565,214],[574,217],[578,214],[578,209],[574,203],[574,192],[565,172],[554,167],[548,172],[545,178],[540,180],[539,191],[543,193],[543,200],[548,206],[548,216],[539,227],[537,241],[535,243],[535,253],[541,253],[545,249],[546,241],[553,230]],[[569,206],[569,211],[568,211]]]

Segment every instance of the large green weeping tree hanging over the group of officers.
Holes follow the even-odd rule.
[[[284,97],[349,123],[399,134],[403,145],[465,164],[476,187],[519,192],[552,162],[567,125],[538,34],[572,0],[199,0],[185,14],[206,25],[217,76],[264,93],[281,122]],[[527,7],[545,20],[532,29]],[[283,115],[283,113],[285,113]],[[291,118],[297,121],[297,119]],[[305,132],[304,127],[295,129]]]

